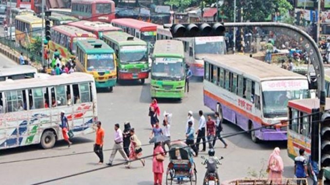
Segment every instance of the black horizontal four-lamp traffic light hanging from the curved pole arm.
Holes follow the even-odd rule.
[[[219,22],[173,24],[172,26],[170,26],[169,29],[173,38],[197,37],[197,36],[223,36],[225,33],[224,26]]]

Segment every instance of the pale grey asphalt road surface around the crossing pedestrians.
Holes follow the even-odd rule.
[[[0,54],[0,66],[12,65],[6,57]],[[145,85],[137,82],[129,82],[118,85],[112,93],[98,92],[98,118],[102,121],[106,132],[104,150],[110,149],[113,145],[113,126],[120,123],[121,127],[125,121],[131,122],[136,134],[143,144],[148,143],[148,135],[151,132],[148,113],[150,102],[149,80]],[[166,110],[173,113],[171,125],[172,139],[183,139],[187,112],[192,110],[195,119],[198,119],[198,110],[205,114],[211,111],[203,106],[202,82],[196,80],[191,83],[190,93],[183,98],[183,101],[160,101],[161,112]],[[197,122],[198,120],[196,120]],[[195,129],[197,129],[195,124]],[[232,124],[224,125],[224,133],[236,133],[240,129]],[[63,176],[81,173],[95,169],[93,172],[72,176],[48,183],[49,185],[153,185],[152,159],[146,159],[146,166],[142,167],[140,162],[131,164],[130,169],[123,165],[104,168],[106,165],[97,165],[98,158],[92,152],[95,135],[76,137],[73,139],[73,146],[68,148],[63,141],[56,143],[55,148],[42,150],[38,145],[26,146],[16,149],[0,151],[0,184],[1,185],[30,185],[39,182],[61,178]],[[287,156],[285,142],[262,142],[255,144],[250,140],[249,135],[237,135],[227,138],[228,148],[223,149],[218,141],[216,144],[216,155],[223,156],[222,166],[219,167],[220,181],[251,176],[259,172],[265,175],[265,168],[269,154],[275,147],[281,148],[285,168],[284,176],[293,177],[293,161]],[[143,154],[151,155],[153,145],[143,147]],[[38,157],[60,156],[79,152],[89,152],[62,157],[51,157],[41,160],[21,161],[6,163],[7,161],[25,160]],[[201,155],[206,154],[202,152]],[[110,151],[105,151],[105,162],[110,157]],[[205,168],[201,165],[201,158],[194,158],[198,171],[198,185],[202,184]],[[113,164],[123,162],[122,157],[117,153]],[[168,158],[165,159],[164,169],[166,170]],[[103,168],[103,169],[100,169]],[[165,184],[165,173],[163,177]]]

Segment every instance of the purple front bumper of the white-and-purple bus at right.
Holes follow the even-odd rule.
[[[265,129],[256,132],[257,137],[264,141],[286,141],[288,140],[287,131],[276,131]]]

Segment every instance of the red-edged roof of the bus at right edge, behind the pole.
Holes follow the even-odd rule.
[[[312,109],[320,108],[320,100],[318,98],[292,100],[288,102],[288,107],[297,109],[305,113],[312,113]],[[330,98],[326,99],[326,110],[330,109]]]

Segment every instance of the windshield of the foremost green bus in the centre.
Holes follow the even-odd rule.
[[[156,80],[183,80],[182,58],[156,58],[152,64],[151,77]]]

